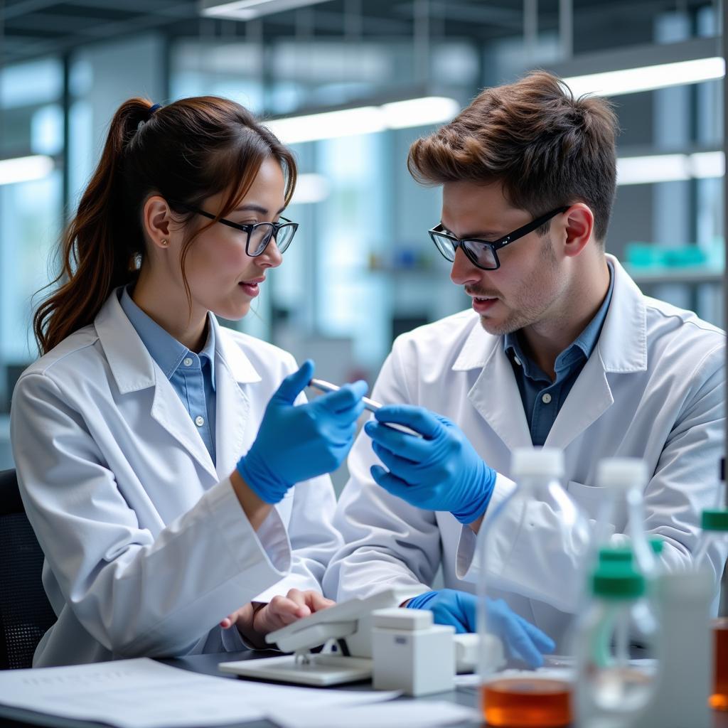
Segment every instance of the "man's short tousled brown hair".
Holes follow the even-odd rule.
[[[535,71],[480,92],[452,122],[414,142],[407,167],[423,184],[500,182],[508,201],[534,217],[584,202],[594,213],[594,237],[604,242],[616,133],[607,101],[574,98],[557,76]]]

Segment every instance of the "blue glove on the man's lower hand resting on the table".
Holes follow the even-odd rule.
[[[453,625],[456,633],[475,632],[478,598],[455,589],[425,592],[408,601],[407,609],[429,609],[438,625]],[[553,640],[515,614],[502,599],[486,599],[488,631],[500,638],[508,657],[523,660],[531,668],[543,665],[542,654],[553,652]]]

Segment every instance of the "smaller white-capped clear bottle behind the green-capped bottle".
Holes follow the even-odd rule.
[[[649,481],[646,463],[632,457],[604,458],[597,465],[596,479],[605,494],[597,519],[597,545],[615,545],[609,543],[610,537],[615,530],[623,532],[629,538],[637,571],[651,581],[657,575],[655,555],[660,543],[653,544],[644,528],[644,489]]]

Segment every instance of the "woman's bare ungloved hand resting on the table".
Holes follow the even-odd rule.
[[[320,612],[336,604],[316,591],[291,589],[286,596],[274,596],[268,604],[253,602],[229,614],[220,622],[223,629],[237,625],[240,634],[262,649],[266,646],[265,636],[269,632],[290,625],[302,617]]]

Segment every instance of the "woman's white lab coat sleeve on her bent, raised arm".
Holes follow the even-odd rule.
[[[256,534],[228,478],[156,538],[140,528],[82,415],[44,374],[18,381],[11,437],[25,512],[63,598],[119,657],[193,652],[288,573],[280,517]]]

